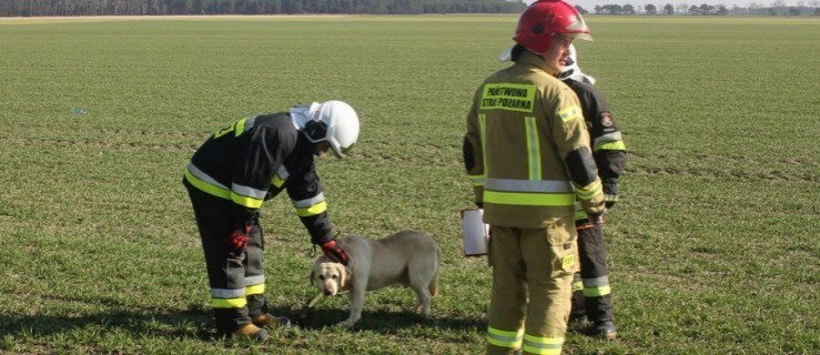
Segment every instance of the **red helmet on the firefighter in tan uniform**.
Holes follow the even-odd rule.
[[[539,0],[524,10],[513,39],[530,52],[543,54],[553,36],[558,33],[593,40],[587,23],[571,4],[563,0]]]

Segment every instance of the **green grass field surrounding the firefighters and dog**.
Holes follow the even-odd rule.
[[[606,236],[619,339],[565,354],[820,352],[820,19],[588,17],[584,71],[630,150]],[[480,354],[490,270],[460,254],[465,113],[515,16],[0,19],[0,353]],[[214,130],[341,99],[318,163],[343,233],[443,247],[433,316],[326,300],[265,346],[214,341],[183,168]],[[306,232],[267,202],[267,294],[314,294]]]

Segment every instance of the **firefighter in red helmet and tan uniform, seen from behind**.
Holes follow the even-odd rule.
[[[490,225],[487,354],[561,353],[576,197],[591,221],[605,211],[578,98],[556,79],[575,38],[591,39],[573,6],[529,6],[502,54],[515,63],[484,81],[467,115],[464,163]]]

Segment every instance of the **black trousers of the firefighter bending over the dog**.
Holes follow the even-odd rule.
[[[183,184],[191,197],[205,253],[216,329],[226,334],[267,312],[262,229],[254,219],[245,251],[232,251],[225,239],[239,227],[233,219],[233,202],[210,195],[186,181]]]

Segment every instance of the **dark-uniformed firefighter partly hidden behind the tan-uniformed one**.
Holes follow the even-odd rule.
[[[577,53],[571,54],[558,77],[575,91],[584,110],[584,120],[593,140],[593,156],[598,165],[598,175],[604,185],[607,209],[618,201],[618,178],[627,160],[626,145],[618,126],[615,125],[609,104],[593,84],[595,78],[580,71]],[[580,273],[573,285],[574,318],[586,316],[593,322],[593,333],[607,339],[617,336],[613,322],[613,298],[607,272],[607,250],[601,225],[589,223],[580,206],[576,209]]]

